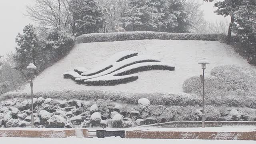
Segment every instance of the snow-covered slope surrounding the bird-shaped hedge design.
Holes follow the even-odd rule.
[[[78,85],[64,79],[63,73],[75,67],[91,70],[113,54],[131,50],[139,55],[156,56],[161,62],[174,64],[175,71],[153,70],[139,72],[138,80],[117,86]],[[218,41],[197,40],[134,40],[76,44],[68,56],[46,69],[34,80],[34,92],[62,90],[110,90],[132,93],[182,92],[184,80],[202,73],[200,58],[208,58],[206,76],[215,66],[236,64],[250,65],[232,50]],[[30,92],[30,86],[25,87]]]

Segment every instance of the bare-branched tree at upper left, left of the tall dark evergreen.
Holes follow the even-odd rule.
[[[68,0],[34,0],[27,6],[27,16],[48,29],[70,30],[71,12]]]

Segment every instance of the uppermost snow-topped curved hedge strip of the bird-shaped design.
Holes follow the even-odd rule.
[[[132,56],[138,55],[138,52],[135,51],[122,51],[114,54],[110,58],[108,58],[105,62],[102,64],[96,65],[92,70],[88,70],[86,72],[83,72],[83,76],[92,76],[94,74],[98,74],[100,72],[103,72],[104,70],[107,70],[108,68],[111,68],[113,66],[113,63],[120,62],[124,59],[130,58]]]

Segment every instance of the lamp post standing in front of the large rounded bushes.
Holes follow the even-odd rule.
[[[205,113],[204,113],[204,70],[206,69],[206,64],[210,64],[206,58],[202,58],[198,61],[198,64],[202,65],[203,76],[202,76],[202,83],[203,83],[203,112],[202,112],[202,128],[204,128],[204,121],[205,121]]]

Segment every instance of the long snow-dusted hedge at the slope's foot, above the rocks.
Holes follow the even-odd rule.
[[[30,93],[7,92],[2,94],[0,100],[12,99],[16,97],[30,98]],[[164,106],[202,106],[202,98],[195,94],[177,93],[128,93],[128,92],[110,92],[101,90],[76,90],[76,91],[54,91],[54,92],[36,92],[35,98],[56,98],[60,100],[113,100],[126,104],[137,104],[140,98],[148,98],[153,105]],[[214,106],[239,106],[256,108],[256,97],[221,97],[206,98],[206,104]]]

